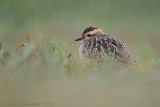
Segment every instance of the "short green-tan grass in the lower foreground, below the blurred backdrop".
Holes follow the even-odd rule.
[[[73,47],[55,39],[39,39],[24,47],[2,44],[1,54],[8,52],[0,63],[2,106],[47,102],[58,107],[160,105],[160,67],[158,60],[151,59],[152,48],[140,48],[138,65],[122,66],[112,61],[83,64],[75,47],[78,44]]]

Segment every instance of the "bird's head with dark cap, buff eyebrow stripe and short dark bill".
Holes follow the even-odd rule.
[[[103,31],[95,26],[89,26],[86,29],[84,29],[82,36],[75,41],[87,41],[93,38],[96,38],[97,36],[103,34]]]

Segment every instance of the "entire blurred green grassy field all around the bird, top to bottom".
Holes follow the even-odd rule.
[[[159,107],[159,4],[0,0],[0,107]],[[121,39],[138,64],[81,63],[74,40],[90,25]]]

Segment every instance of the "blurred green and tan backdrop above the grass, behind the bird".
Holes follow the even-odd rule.
[[[159,50],[160,1],[0,0],[0,23],[0,39],[12,45],[27,32],[32,39],[73,41],[86,27],[98,26],[129,48],[149,42]]]

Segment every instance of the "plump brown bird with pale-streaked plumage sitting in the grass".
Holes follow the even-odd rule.
[[[124,43],[114,36],[105,34],[101,28],[89,26],[84,29],[82,36],[75,41],[81,41],[79,57],[81,61],[103,62],[109,56],[115,62],[130,64],[135,62],[132,54]]]

